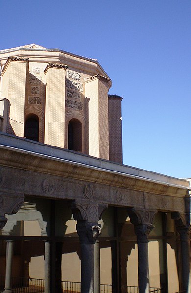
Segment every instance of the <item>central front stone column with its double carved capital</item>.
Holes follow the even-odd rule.
[[[90,186],[86,187],[86,195],[91,194]],[[93,200],[73,201],[71,205],[74,220],[77,220],[77,233],[81,247],[81,293],[94,293],[94,244],[101,233],[98,224],[106,204],[98,204]],[[97,274],[98,276],[98,274]]]

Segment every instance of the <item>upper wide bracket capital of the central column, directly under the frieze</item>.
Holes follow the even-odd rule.
[[[74,200],[71,204],[74,220],[87,221],[89,223],[97,223],[107,204],[92,203],[89,201]]]

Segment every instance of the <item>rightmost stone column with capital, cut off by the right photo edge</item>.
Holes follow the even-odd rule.
[[[191,244],[190,244],[190,215],[172,213],[176,230],[180,235],[182,288],[186,293],[191,293]]]

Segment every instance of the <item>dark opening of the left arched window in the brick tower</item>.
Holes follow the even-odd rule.
[[[39,118],[35,114],[29,114],[25,120],[24,136],[33,141],[39,141]]]

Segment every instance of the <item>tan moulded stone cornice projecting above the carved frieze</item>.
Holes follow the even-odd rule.
[[[30,144],[30,142],[28,142],[28,144]],[[65,152],[69,154],[68,160],[58,158],[54,156],[52,150],[53,147],[50,149],[51,153],[49,155],[45,155],[29,150],[16,149],[9,146],[0,146],[0,165],[44,174],[52,174],[65,178],[73,178],[87,182],[95,182],[97,184],[105,184],[115,188],[119,187],[124,190],[127,189],[129,191],[134,190],[138,192],[147,192],[153,195],[168,195],[185,198],[188,192],[188,187],[186,186],[184,180],[180,180],[180,183],[177,182],[177,184],[175,184],[143,178],[124,173],[124,167],[126,166],[120,166],[118,164],[116,164],[116,170],[107,170],[103,167],[92,166],[91,163],[89,163],[90,165],[87,165],[85,163],[71,161],[70,152],[67,151]],[[61,149],[59,150],[55,148],[55,151],[56,150],[58,152],[62,151]],[[94,158],[88,158],[90,162],[91,159],[94,161]],[[104,161],[102,163],[104,165]],[[108,164],[112,165],[111,162],[108,162]],[[121,171],[117,170],[117,167],[121,168]],[[179,180],[177,179],[177,181]],[[121,197],[120,195],[116,196],[119,197],[119,199]],[[166,201],[168,202],[168,198],[164,199],[164,206],[167,206]]]

